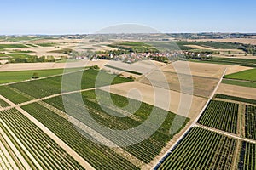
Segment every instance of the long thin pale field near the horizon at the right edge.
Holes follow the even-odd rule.
[[[197,39],[188,40],[189,42],[238,42],[256,45],[256,38],[227,38],[227,39]]]

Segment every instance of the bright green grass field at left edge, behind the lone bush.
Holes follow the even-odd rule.
[[[77,69],[70,69],[69,71],[76,71]],[[50,70],[34,70],[34,71],[4,71],[0,72],[0,84],[8,82],[20,82],[32,78],[32,74],[37,72],[39,77],[49,77],[63,73],[63,69]]]

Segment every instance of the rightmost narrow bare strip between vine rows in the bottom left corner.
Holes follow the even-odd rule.
[[[43,169],[43,167],[40,166],[40,164],[38,163],[38,161],[32,156],[32,154],[26,150],[26,147],[20,142],[20,139],[18,139],[15,135],[15,133],[13,133],[11,131],[11,129],[9,129],[9,127],[5,124],[5,122],[3,122],[2,120],[0,120],[1,124],[3,124],[3,127],[7,129],[7,131],[10,133],[10,135],[15,139],[15,141],[20,145],[21,149],[24,150],[24,152],[26,153],[26,156],[28,156],[30,158],[30,160],[32,160],[33,164],[38,167],[38,169]],[[23,164],[23,161],[22,161]]]

